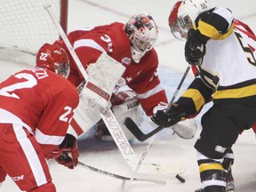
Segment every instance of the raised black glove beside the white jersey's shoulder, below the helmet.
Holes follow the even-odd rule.
[[[188,30],[188,40],[185,44],[185,59],[190,65],[201,65],[206,52],[205,44],[200,39],[202,36],[194,28]]]

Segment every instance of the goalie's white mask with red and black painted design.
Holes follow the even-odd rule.
[[[124,25],[124,31],[130,39],[132,60],[139,63],[143,55],[153,48],[153,44],[157,40],[156,22],[147,12],[133,15]]]

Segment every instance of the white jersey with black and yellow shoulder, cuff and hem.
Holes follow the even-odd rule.
[[[252,30],[221,7],[199,14],[193,28],[200,32],[206,53],[202,65],[196,66],[199,77],[178,103],[189,106],[191,114],[211,98],[214,103],[256,107],[256,37]]]

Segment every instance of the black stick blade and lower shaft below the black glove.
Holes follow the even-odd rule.
[[[134,137],[136,137],[137,140],[140,141],[144,141],[144,140],[148,140],[148,138],[150,138],[151,136],[153,136],[154,134],[156,134],[156,132],[160,132],[161,130],[164,129],[164,127],[162,126],[158,126],[155,130],[153,130],[152,132],[148,132],[148,133],[144,133],[141,132],[140,127],[135,124],[132,120],[132,118],[130,117],[126,117],[124,120],[124,124],[127,127],[127,129],[132,132],[132,134],[134,135]]]

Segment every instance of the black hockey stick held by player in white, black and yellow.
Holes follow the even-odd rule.
[[[172,100],[170,101],[168,107],[166,108],[166,111],[168,111],[172,107],[172,103],[175,100],[178,92],[180,91],[180,87],[183,84],[186,76],[188,75],[189,69],[190,69],[190,66],[188,65],[188,68],[186,69],[184,75],[182,76],[180,80],[180,84],[178,85],[176,91],[174,92],[172,96]],[[148,140],[148,138],[155,135],[156,132],[160,132],[161,130],[164,129],[163,126],[158,126],[155,130],[151,132],[148,132],[148,133],[141,132],[140,127],[137,124],[135,124],[130,117],[125,118],[124,124],[127,127],[127,129],[129,129],[129,131],[132,132],[132,134],[140,141]]]

